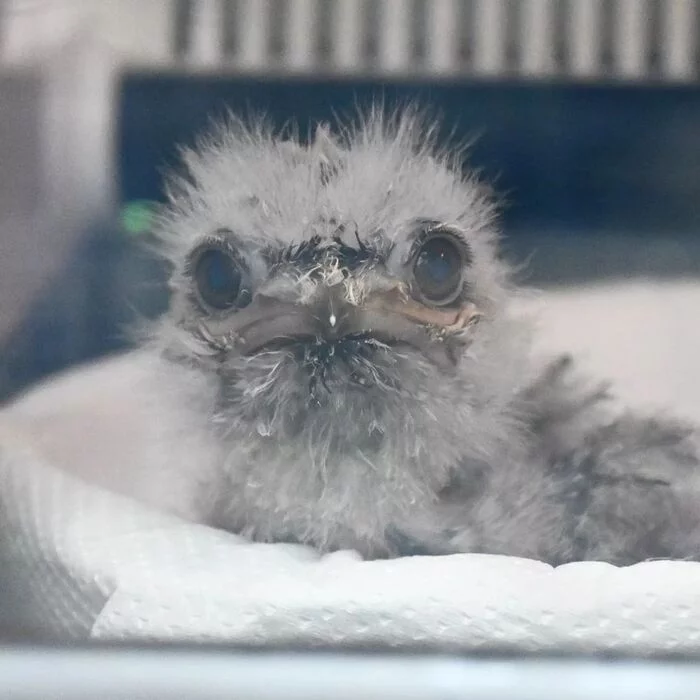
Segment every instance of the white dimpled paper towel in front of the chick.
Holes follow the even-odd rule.
[[[6,447],[3,615],[35,633],[265,644],[700,651],[700,564],[363,562],[152,512]],[[8,601],[12,599],[12,609]]]

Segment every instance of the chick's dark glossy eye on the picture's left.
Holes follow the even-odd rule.
[[[248,271],[233,252],[208,246],[196,251],[191,263],[197,295],[205,306],[224,311],[251,301]]]

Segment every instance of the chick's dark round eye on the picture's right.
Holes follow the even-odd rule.
[[[414,261],[413,277],[426,301],[443,305],[455,300],[462,289],[464,253],[452,234],[439,233],[428,238]]]

